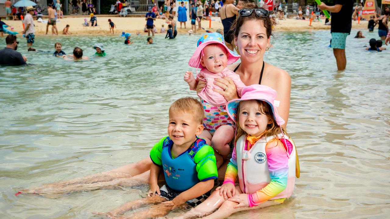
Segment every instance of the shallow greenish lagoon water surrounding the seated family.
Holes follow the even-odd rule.
[[[388,218],[390,214],[389,51],[363,50],[347,37],[347,70],[337,72],[329,31],[275,32],[265,61],[292,78],[287,130],[301,177],[284,204],[229,218]],[[183,81],[197,36],[37,36],[34,47],[80,46],[89,61],[18,51],[34,64],[0,67],[0,217],[88,218],[145,197],[148,187],[74,193],[56,199],[14,196],[18,189],[110,170],[148,156],[167,134],[169,105],[193,96]],[[94,58],[95,42],[106,57]],[[4,38],[0,48],[5,46]],[[389,49],[389,48],[388,48]],[[175,210],[170,214],[181,214]]]

